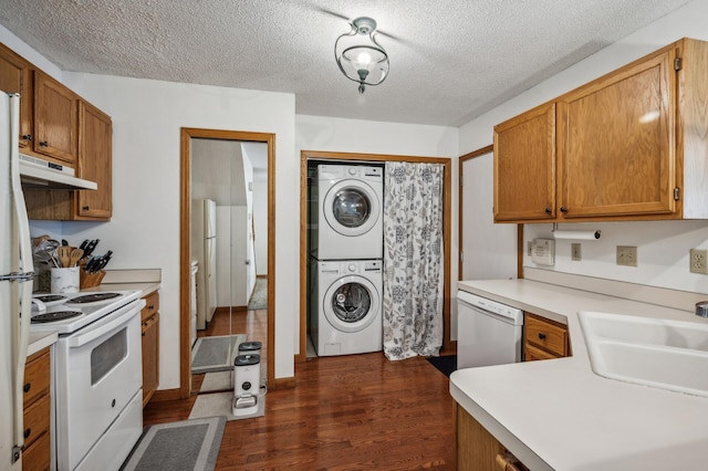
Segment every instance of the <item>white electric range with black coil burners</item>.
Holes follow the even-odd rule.
[[[117,470],[143,430],[139,291],[35,295],[54,347],[56,469]]]

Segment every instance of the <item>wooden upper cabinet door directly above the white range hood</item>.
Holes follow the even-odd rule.
[[[34,71],[34,151],[74,165],[76,95],[39,71]]]

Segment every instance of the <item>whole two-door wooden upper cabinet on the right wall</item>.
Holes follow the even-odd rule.
[[[494,127],[494,221],[708,219],[708,43],[683,39]]]

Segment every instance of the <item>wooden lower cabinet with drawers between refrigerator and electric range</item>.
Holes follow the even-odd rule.
[[[24,451],[23,470],[49,470],[51,447],[51,355],[46,347],[31,355],[24,368]]]

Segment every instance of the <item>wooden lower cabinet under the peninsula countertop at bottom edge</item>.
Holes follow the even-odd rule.
[[[458,471],[528,470],[467,410],[456,407]]]

